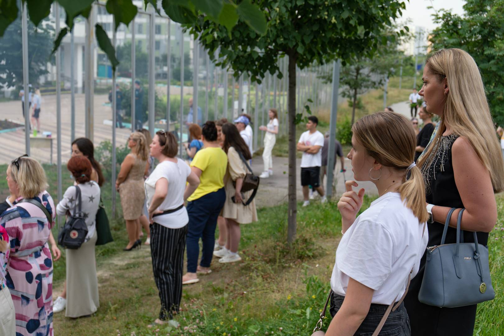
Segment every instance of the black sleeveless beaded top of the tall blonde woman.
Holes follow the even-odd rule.
[[[452,146],[459,138],[456,134],[440,137],[430,155],[422,165],[421,172],[425,182],[426,201],[434,206],[464,208],[459,190],[455,184],[455,176],[452,164]],[[475,172],[476,173],[476,172]],[[428,246],[439,245],[443,236],[445,223],[434,222],[428,224],[429,242]],[[457,242],[457,230],[449,227],[446,244]],[[478,232],[478,243],[486,245],[488,233]],[[464,242],[474,242],[473,234],[464,231]]]

